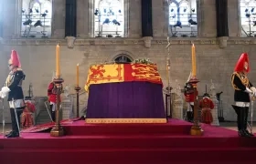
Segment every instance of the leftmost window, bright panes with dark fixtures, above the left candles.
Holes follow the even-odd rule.
[[[52,0],[23,0],[22,37],[51,36]]]

